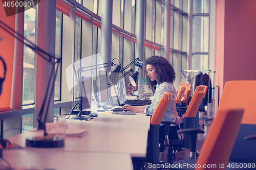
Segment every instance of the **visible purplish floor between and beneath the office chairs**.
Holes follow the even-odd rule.
[[[200,154],[200,149],[203,145],[203,141],[207,135],[207,131],[210,127],[210,124],[211,124],[211,120],[210,121],[205,121],[205,120],[200,120],[200,127],[202,130],[204,130],[204,134],[198,134],[198,138],[197,138],[197,150],[199,151],[199,154]],[[167,153],[168,153],[168,148],[165,148],[164,152],[163,153],[160,153],[160,158],[159,160],[162,160],[162,161],[167,161]],[[175,161],[178,161],[178,160],[184,160],[184,159],[189,159],[189,149],[184,149],[182,151],[178,151],[177,154],[176,154],[176,159],[174,160]],[[145,169],[151,169],[151,170],[154,170],[156,168],[145,168]],[[163,168],[164,169],[164,168]]]

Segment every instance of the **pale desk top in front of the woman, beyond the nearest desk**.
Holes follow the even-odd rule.
[[[91,121],[69,119],[67,123],[69,129],[87,129],[88,134],[81,138],[66,137],[65,151],[146,155],[150,117],[145,114],[112,115],[105,112]],[[25,132],[9,140],[25,147],[27,137],[41,135],[41,131]]]

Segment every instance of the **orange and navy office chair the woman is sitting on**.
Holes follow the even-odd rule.
[[[147,157],[132,158],[134,169],[141,168],[143,161],[157,163],[159,161],[159,126],[163,115],[172,99],[172,93],[165,91],[151,117],[150,130],[148,131],[147,139]]]

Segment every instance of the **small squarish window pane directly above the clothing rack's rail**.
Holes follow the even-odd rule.
[[[192,69],[208,69],[208,55],[193,55]]]

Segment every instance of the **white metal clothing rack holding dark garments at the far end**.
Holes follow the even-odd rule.
[[[205,120],[206,120],[206,122],[207,122],[207,120],[212,120],[212,118],[214,117],[214,115],[215,115],[215,105],[216,105],[216,88],[215,88],[215,72],[216,71],[213,71],[213,70],[211,70],[211,69],[205,69],[205,70],[201,70],[201,69],[188,69],[188,70],[181,70],[181,78],[184,76],[185,78],[187,78],[187,73],[193,73],[193,72],[202,72],[202,73],[206,73],[206,74],[208,74],[208,76],[209,76],[209,83],[208,83],[208,87],[209,87],[209,85],[210,85],[210,73],[212,72],[214,75],[213,75],[213,79],[212,79],[212,88],[211,88],[211,90],[212,90],[212,101],[211,101],[211,103],[212,103],[212,117],[210,117],[209,116],[209,103],[208,103],[208,101],[207,101],[207,118],[205,118]],[[196,76],[196,75],[194,75],[194,76]],[[181,81],[181,79],[180,79],[180,81]],[[180,82],[181,83],[181,82]],[[192,81],[192,83],[193,83],[193,81]],[[192,86],[193,86],[193,84],[191,84]],[[193,90],[193,92],[194,92],[194,89],[192,89]],[[209,100],[209,92],[208,92],[208,100]]]

